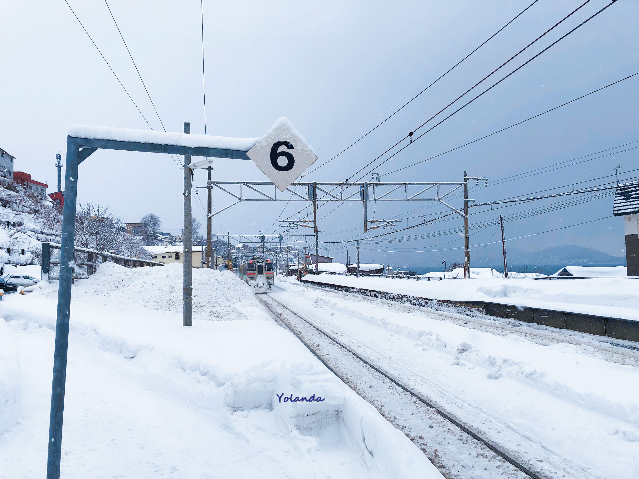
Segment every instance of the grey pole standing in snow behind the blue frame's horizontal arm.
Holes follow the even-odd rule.
[[[190,135],[191,124],[184,123],[184,133]],[[182,280],[182,326],[193,326],[193,238],[191,216],[191,155],[184,155],[184,232],[182,233],[184,271]]]

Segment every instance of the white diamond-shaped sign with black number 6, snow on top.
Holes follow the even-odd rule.
[[[318,159],[286,117],[277,120],[247,155],[281,192]]]

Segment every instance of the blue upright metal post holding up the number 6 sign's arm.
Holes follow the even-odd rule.
[[[58,316],[56,346],[53,353],[51,413],[49,419],[49,453],[47,479],[59,479],[62,447],[62,420],[65,411],[66,355],[69,344],[69,314],[73,279],[73,242],[75,241],[75,202],[77,200],[79,147],[72,139],[66,144],[65,206],[62,217],[60,279],[58,282]]]

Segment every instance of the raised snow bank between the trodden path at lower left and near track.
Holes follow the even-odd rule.
[[[270,441],[255,447],[242,437],[231,446],[243,453],[249,448],[249,455],[267,463],[281,463],[289,449],[304,455],[281,476],[441,477],[406,436],[277,326],[233,273],[193,271],[194,326],[183,328],[182,271],[178,263],[132,270],[100,265],[73,286],[70,342],[119,356],[125,374],[210,411],[220,427],[230,427],[243,414],[243,430],[255,437],[264,434],[254,422],[259,414],[276,418],[279,429],[270,434],[285,437],[284,446]],[[40,283],[33,290],[5,300],[4,317],[53,330],[57,288]]]

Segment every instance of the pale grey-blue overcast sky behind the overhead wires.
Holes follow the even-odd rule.
[[[206,132],[258,137],[277,118],[286,116],[314,146],[319,165],[399,109],[531,2],[205,0]],[[364,173],[364,179],[370,179],[368,172],[388,155],[357,178],[353,174],[581,3],[539,0],[387,123],[304,180],[352,180]],[[608,3],[590,1],[456,105],[484,91]],[[146,120],[154,130],[162,130],[104,1],[69,0],[69,4]],[[180,132],[184,119],[190,119],[192,133],[204,133],[199,1],[111,0],[109,6],[166,130]],[[463,171],[468,170],[470,176],[489,178],[488,188],[472,192],[477,202],[549,188],[557,189],[548,193],[566,192],[573,189],[573,184],[579,188],[609,183],[615,180],[610,175],[615,174],[618,164],[622,165],[620,178],[639,176],[639,149],[629,149],[639,145],[629,144],[639,140],[639,75],[488,139],[389,174],[639,72],[638,10],[636,1],[617,1],[374,171],[386,174],[382,181],[461,181]],[[56,189],[55,154],[61,151],[65,161],[68,126],[149,128],[65,1],[4,1],[0,17],[0,148],[16,157],[17,171],[26,171],[38,181],[48,180],[52,192]],[[431,121],[428,125],[434,124]],[[629,145],[621,147],[624,144]],[[608,149],[600,155],[585,156]],[[629,151],[617,153],[624,149]],[[611,152],[613,155],[590,160]],[[581,156],[590,161],[497,184],[499,179]],[[266,180],[252,162],[215,160],[214,167],[215,179]],[[127,222],[155,213],[166,231],[180,232],[181,175],[168,155],[101,150],[82,163],[78,197],[83,202],[109,205]],[[204,171],[196,172],[197,185],[203,185],[205,179]],[[581,183],[584,181],[590,182]],[[201,205],[196,201],[193,209],[204,223],[204,190],[199,196]],[[580,195],[572,200],[588,198]],[[479,213],[486,208],[472,209],[471,223],[490,222],[499,214],[512,216],[538,210],[559,200],[486,213]],[[216,208],[222,208],[233,199],[215,192],[213,202]],[[459,197],[453,197],[451,204],[463,206]],[[362,204],[343,204],[327,215],[335,206],[321,206],[318,211],[322,218],[319,229],[327,231],[321,235],[322,241],[362,238]],[[304,217],[306,213],[304,209],[301,216],[295,214],[302,208],[300,203],[288,204],[283,214],[282,208],[284,203],[240,204],[215,217],[213,230],[219,234],[275,232],[280,215],[283,219]],[[404,218],[399,225],[405,226],[421,222],[421,215],[443,212],[445,208],[415,202],[379,203],[371,204],[369,211],[371,218]],[[509,244],[536,250],[574,243],[624,255],[622,221],[612,218],[610,194],[569,208],[512,219],[505,229],[507,236],[526,236],[597,218],[605,219]],[[443,232],[462,225],[461,218],[455,218],[390,236]],[[471,244],[495,241],[496,233],[497,226],[475,230]],[[362,252],[362,260],[392,263],[396,253],[390,251],[411,249],[438,250],[432,255],[439,257],[447,254],[440,250],[459,248],[462,241],[454,231],[433,238],[374,244],[369,245],[371,250]],[[323,248],[343,255],[343,246],[323,244]],[[450,256],[455,255],[461,258],[461,250],[450,252]]]

